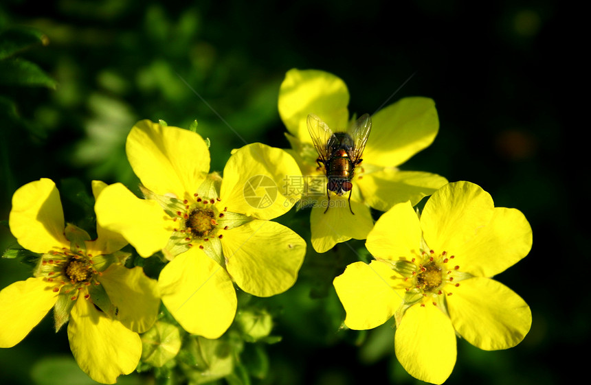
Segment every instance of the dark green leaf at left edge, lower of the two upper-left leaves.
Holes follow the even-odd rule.
[[[0,60],[0,84],[7,86],[44,86],[56,88],[56,81],[34,62],[21,58]]]

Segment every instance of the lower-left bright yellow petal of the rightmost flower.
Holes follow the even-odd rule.
[[[389,320],[400,306],[401,276],[379,261],[355,262],[333,281],[350,329],[372,329]]]

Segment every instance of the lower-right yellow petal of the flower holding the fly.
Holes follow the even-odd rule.
[[[357,178],[367,205],[387,211],[393,205],[410,200],[416,205],[447,183],[447,179],[430,172],[398,171],[392,168],[363,174]]]

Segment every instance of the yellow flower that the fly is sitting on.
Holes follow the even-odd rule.
[[[310,217],[312,246],[319,253],[351,238],[365,239],[372,229],[370,207],[381,211],[399,202],[413,205],[447,183],[445,178],[428,172],[401,171],[398,166],[428,147],[437,135],[439,121],[433,100],[406,97],[379,110],[372,119],[372,129],[353,178],[350,206],[346,196],[331,196],[331,208],[324,213],[326,178],[317,170],[318,154],[306,127],[309,114],[326,122],[329,128],[346,128],[349,124],[346,84],[324,71],[291,69],[285,75],[279,92],[279,113],[289,134],[293,156],[300,164],[307,182],[320,181],[323,188],[306,185],[312,203]],[[314,196],[314,197],[312,197]]]

